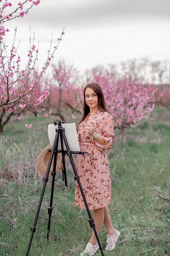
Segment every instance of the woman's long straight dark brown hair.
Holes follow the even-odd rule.
[[[84,88],[83,116],[82,116],[82,119],[80,120],[79,124],[87,117],[88,113],[90,112],[90,108],[86,104],[86,100],[85,100],[85,90],[87,88],[93,89],[93,91],[97,94],[97,98],[98,98],[97,108],[98,108],[98,110],[108,111],[107,107],[106,107],[106,102],[105,102],[105,99],[104,99],[104,93],[103,93],[102,88],[100,87],[100,85],[98,83],[89,83]]]

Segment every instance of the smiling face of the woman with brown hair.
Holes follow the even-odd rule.
[[[98,97],[97,94],[91,88],[86,88],[85,90],[85,101],[87,106],[90,108],[90,112],[95,112],[98,110]]]

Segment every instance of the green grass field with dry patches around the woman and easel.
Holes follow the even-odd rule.
[[[50,117],[51,118],[51,117]],[[54,120],[55,121],[55,120]],[[0,135],[0,255],[24,256],[31,237],[43,176],[37,157],[49,144],[52,119],[29,117],[26,129],[11,122]],[[99,234],[105,256],[170,255],[170,112],[156,108],[137,128],[125,130],[108,153],[112,177],[110,215],[121,232],[113,252],[106,252],[106,230]],[[30,256],[78,256],[91,236],[88,214],[74,205],[74,174],[66,159],[68,187],[55,179],[50,237],[47,240],[51,177],[36,224]],[[17,179],[16,179],[17,177]],[[91,212],[93,213],[93,212]],[[95,255],[101,255],[100,250]]]

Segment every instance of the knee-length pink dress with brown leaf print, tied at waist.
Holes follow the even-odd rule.
[[[104,145],[97,143],[84,131],[83,125],[91,124],[101,135]],[[105,207],[111,198],[111,177],[106,149],[110,149],[114,139],[114,119],[108,112],[91,113],[77,128],[80,150],[86,155],[77,155],[77,173],[90,210]],[[75,204],[86,209],[78,182],[75,186]]]

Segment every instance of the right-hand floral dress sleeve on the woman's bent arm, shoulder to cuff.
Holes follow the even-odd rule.
[[[107,113],[106,116],[102,118],[102,121],[100,121],[100,126],[101,126],[101,132],[99,135],[101,135],[105,141],[104,145],[101,145],[95,141],[96,146],[98,147],[99,150],[103,149],[110,149],[113,144],[114,140],[114,126],[115,126],[115,121],[113,117]]]

